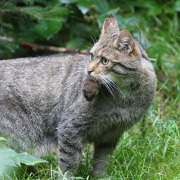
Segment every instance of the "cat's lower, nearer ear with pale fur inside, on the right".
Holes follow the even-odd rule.
[[[114,42],[114,46],[120,51],[125,51],[128,54],[134,54],[135,56],[140,56],[141,50],[134,40],[133,36],[128,30],[122,30],[117,39]]]

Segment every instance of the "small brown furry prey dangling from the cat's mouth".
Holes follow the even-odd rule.
[[[83,82],[82,92],[84,97],[91,101],[99,93],[100,84],[93,77],[86,77]]]

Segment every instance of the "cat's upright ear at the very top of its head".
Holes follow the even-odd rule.
[[[101,36],[106,33],[119,32],[118,21],[114,16],[109,16],[105,19],[103,27],[101,29]]]

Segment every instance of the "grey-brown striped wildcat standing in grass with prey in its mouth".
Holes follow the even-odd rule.
[[[108,17],[89,55],[0,62],[0,134],[21,151],[55,150],[75,172],[84,144],[94,143],[93,175],[123,132],[152,103],[156,75],[145,51]]]

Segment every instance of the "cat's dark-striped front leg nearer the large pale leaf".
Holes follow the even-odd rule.
[[[58,129],[59,165],[63,172],[74,174],[81,159],[82,138],[71,126]]]

